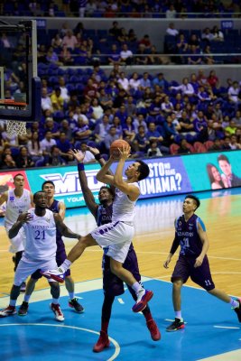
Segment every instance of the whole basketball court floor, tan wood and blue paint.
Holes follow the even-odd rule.
[[[197,214],[205,222],[209,241],[209,261],[217,288],[241,296],[240,216],[241,189],[198,194],[201,207]],[[0,357],[3,361],[232,361],[241,360],[241,324],[230,306],[188,282],[182,290],[182,314],[185,329],[168,333],[173,320],[171,271],[162,267],[173,239],[173,220],[181,214],[184,196],[149,199],[137,205],[136,250],[145,288],[154,292],[150,307],[162,338],[150,338],[141,313],[134,314],[128,291],[116,298],[109,325],[110,347],[99,354],[92,352],[100,327],[103,301],[101,250],[93,247],[83,261],[73,265],[76,293],[85,312],[77,314],[68,307],[65,286],[61,286],[60,305],[65,321],[55,321],[50,310],[51,294],[43,280],[33,292],[29,313],[0,319]],[[2,221],[2,220],[1,220]],[[80,234],[95,227],[88,209],[70,209],[65,223]],[[3,224],[3,221],[2,221]],[[73,245],[66,240],[67,249]],[[0,245],[5,257],[5,243]],[[2,258],[2,256],[1,256]],[[10,261],[8,267],[12,268]],[[8,293],[1,286],[0,307],[8,304]],[[9,281],[10,290],[11,282]],[[2,291],[1,291],[2,289]],[[3,291],[4,290],[4,291]],[[23,295],[18,304],[21,304]]]

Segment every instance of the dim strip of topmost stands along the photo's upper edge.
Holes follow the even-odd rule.
[[[4,0],[1,14],[8,16],[80,16],[80,17],[166,17],[183,18],[238,16],[240,2],[218,0]],[[199,14],[197,14],[199,13]]]

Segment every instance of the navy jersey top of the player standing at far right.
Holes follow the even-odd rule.
[[[175,239],[178,240],[181,246],[180,255],[196,257],[201,253],[203,244],[199,237],[198,224],[206,231],[204,223],[195,214],[193,214],[188,221],[185,220],[184,215],[176,219]]]

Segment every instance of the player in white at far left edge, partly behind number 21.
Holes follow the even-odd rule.
[[[27,211],[33,206],[32,193],[29,190],[24,189],[24,177],[23,174],[18,173],[14,176],[13,190],[6,190],[0,197],[0,206],[6,202],[5,206],[5,230],[8,236],[9,229],[14,225],[18,216]],[[24,250],[24,231],[23,229],[15,236],[10,239],[9,251],[14,253],[14,271],[21,260]],[[22,285],[22,291],[25,288],[25,282]]]

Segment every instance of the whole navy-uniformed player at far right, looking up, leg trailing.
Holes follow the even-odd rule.
[[[189,277],[209,294],[229,303],[232,309],[236,311],[239,322],[241,322],[241,300],[234,300],[227,293],[218,290],[212,280],[207,256],[209,239],[206,227],[203,221],[194,214],[199,205],[200,201],[197,197],[193,195],[185,197],[182,206],[183,214],[175,219],[175,238],[171,245],[170,254],[163,264],[165,268],[168,268],[172,255],[180,245],[180,255],[171,275],[175,320],[166,329],[167,331],[184,329],[184,321],[181,316],[181,287],[183,283],[188,281]]]

